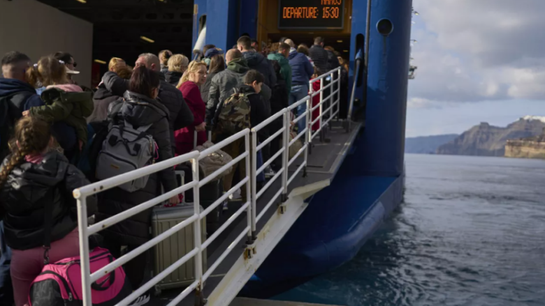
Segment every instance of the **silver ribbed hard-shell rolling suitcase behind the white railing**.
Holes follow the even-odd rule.
[[[186,220],[193,215],[193,205],[180,205],[175,207],[155,207],[152,212],[152,236],[167,231],[176,224]],[[201,211],[203,208],[201,206]],[[201,220],[201,233],[204,243],[206,240],[206,220]],[[194,244],[194,226],[192,224],[180,229],[177,233],[161,241],[153,247],[154,275],[161,273],[175,261],[184,257],[195,247]],[[183,286],[189,286],[195,281],[195,260],[190,259],[173,273],[163,278],[161,282],[155,285],[156,293],[163,289],[174,289]],[[203,250],[203,272],[207,269],[206,250]]]

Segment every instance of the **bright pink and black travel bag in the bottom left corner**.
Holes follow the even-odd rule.
[[[115,259],[110,252],[96,247],[89,254],[91,273]],[[113,306],[132,293],[122,267],[91,284],[93,305]],[[29,306],[83,305],[80,257],[68,257],[45,265],[29,291]]]

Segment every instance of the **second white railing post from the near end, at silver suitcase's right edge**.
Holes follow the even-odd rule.
[[[191,160],[191,172],[193,174],[193,181],[197,182],[197,184],[193,188],[193,210],[194,214],[200,215],[201,214],[201,188],[198,187],[198,181],[201,179],[198,176],[198,158],[194,158]],[[201,300],[203,298],[202,296],[202,289],[203,289],[203,252],[201,250],[201,243],[202,243],[202,229],[201,229],[201,218],[199,217],[195,222],[193,222],[193,229],[194,229],[194,243],[195,248],[198,249],[197,254],[195,255],[195,280],[199,280],[199,284],[196,289],[196,296],[195,298],[198,300]]]

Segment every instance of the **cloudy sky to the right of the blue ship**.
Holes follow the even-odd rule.
[[[414,0],[409,107],[545,100],[544,0]]]

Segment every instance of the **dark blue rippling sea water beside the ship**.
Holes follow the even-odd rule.
[[[277,300],[545,305],[545,160],[406,155],[405,202],[349,263]]]

